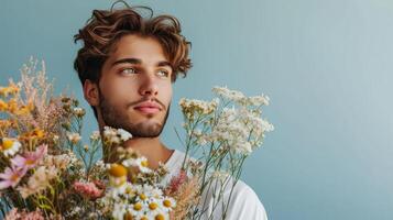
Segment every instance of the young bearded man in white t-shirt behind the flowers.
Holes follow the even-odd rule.
[[[172,84],[192,67],[190,43],[181,35],[177,19],[145,19],[133,8],[94,10],[75,35],[75,41],[79,40],[84,45],[74,67],[100,131],[109,125],[130,132],[133,138],[125,147],[145,156],[151,168],[165,163],[168,176],[175,176],[184,153],[165,146],[160,134],[170,113]],[[229,191],[225,193],[225,198],[228,196]],[[237,184],[231,198],[226,219],[266,219],[258,196],[244,183]],[[221,217],[220,211],[216,209],[215,219]]]

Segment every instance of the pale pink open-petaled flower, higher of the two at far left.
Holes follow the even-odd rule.
[[[46,153],[47,145],[43,144],[39,146],[35,152],[26,152],[24,157],[17,155],[15,157],[11,158],[11,163],[17,167],[30,169],[35,167],[35,165],[46,155]]]

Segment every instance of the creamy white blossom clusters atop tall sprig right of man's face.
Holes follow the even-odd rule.
[[[198,124],[203,129],[198,129],[198,125],[194,124],[195,129],[188,131],[188,135],[197,138],[196,143],[200,145],[220,142],[222,146],[230,147],[236,153],[249,155],[262,144],[265,132],[274,130],[273,124],[261,118],[262,111],[260,107],[269,105],[269,97],[264,95],[247,97],[242,92],[230,90],[227,87],[214,87],[212,91],[219,97],[229,100],[229,102],[226,102],[227,106],[230,102],[234,102],[240,107],[218,108],[219,101],[216,99],[211,102],[182,99],[179,102],[182,111],[185,116],[189,116],[186,117],[189,121],[186,121],[185,124],[194,123],[193,112],[207,117],[207,114],[211,114],[215,111],[216,116],[215,123]],[[206,129],[206,125],[210,128]],[[200,130],[210,132],[200,132]]]

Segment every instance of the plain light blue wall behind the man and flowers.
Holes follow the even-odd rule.
[[[83,99],[73,35],[109,0],[2,0],[0,82],[30,55],[56,91]],[[194,68],[174,88],[164,142],[177,147],[181,97],[227,85],[271,97],[275,124],[243,180],[272,220],[393,219],[393,2],[389,0],[132,1],[171,13],[193,42]],[[86,102],[84,107],[88,108]],[[92,112],[86,133],[96,130]]]

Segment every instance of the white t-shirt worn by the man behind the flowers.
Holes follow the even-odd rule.
[[[175,150],[168,161],[165,163],[165,166],[168,169],[168,174],[163,179],[164,184],[170,183],[172,177],[177,176],[184,160],[185,154],[181,151]],[[223,199],[228,200],[230,195],[231,187],[225,189]],[[209,193],[210,194],[210,193]],[[205,204],[207,211],[205,212],[206,219],[211,213],[212,207],[212,194],[201,198],[207,198]],[[214,220],[221,219],[222,208],[217,206],[214,211]],[[226,220],[268,220],[266,211],[258,198],[256,194],[243,182],[239,180],[232,191],[231,200],[227,211]]]

